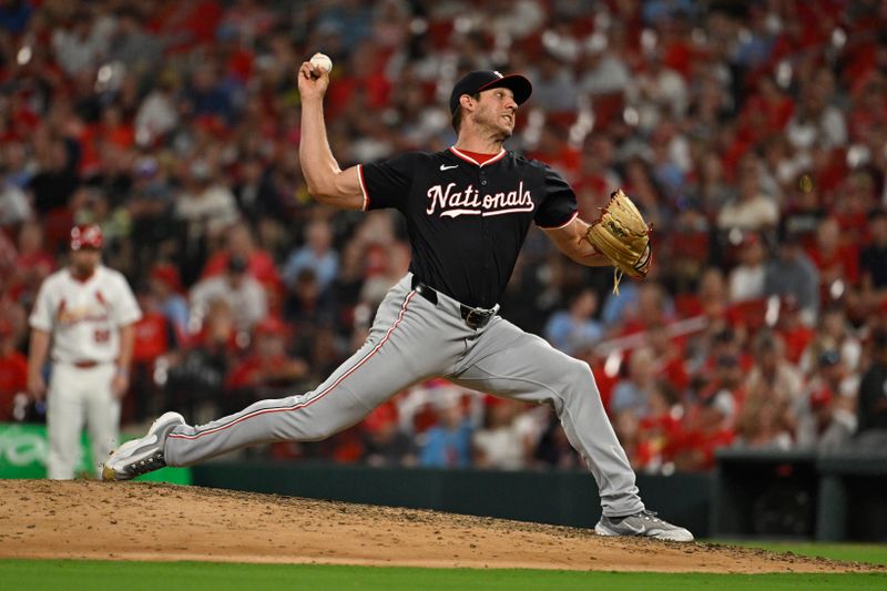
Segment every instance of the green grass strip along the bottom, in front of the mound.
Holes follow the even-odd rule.
[[[879,574],[662,574],[503,569],[416,569],[212,562],[0,560],[3,589],[65,591],[884,589]]]

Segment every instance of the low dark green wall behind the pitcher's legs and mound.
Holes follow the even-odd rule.
[[[225,461],[192,468],[195,485],[369,505],[436,509],[573,527],[601,516],[594,479],[580,471],[490,471]],[[707,536],[711,476],[639,476],[646,505]]]

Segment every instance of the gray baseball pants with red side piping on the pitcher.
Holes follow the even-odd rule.
[[[603,513],[644,508],[634,471],[604,412],[588,364],[496,316],[470,328],[459,303],[437,305],[400,279],[379,306],[367,342],[316,389],[261,400],[207,425],[176,427],[164,454],[170,466],[273,441],[317,441],[359,422],[412,384],[443,377],[453,384],[524,403],[549,403],[591,469]]]

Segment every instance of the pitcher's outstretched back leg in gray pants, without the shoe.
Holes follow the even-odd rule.
[[[401,389],[439,374],[452,354],[429,306],[401,282],[380,305],[364,346],[320,386],[207,425],[176,427],[165,441],[166,463],[188,466],[256,444],[315,441],[358,422]]]

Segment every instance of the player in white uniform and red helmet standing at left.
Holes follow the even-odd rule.
[[[28,389],[47,400],[47,470],[55,480],[74,477],[84,424],[96,468],[114,449],[130,385],[133,323],[142,312],[123,275],[101,264],[102,243],[98,225],[71,231],[70,264],[47,277],[30,317]]]

